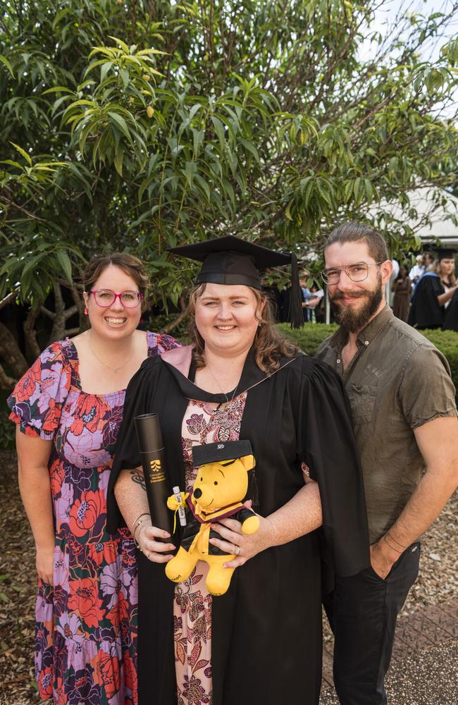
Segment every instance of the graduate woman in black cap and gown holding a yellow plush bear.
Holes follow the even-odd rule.
[[[139,703],[317,705],[321,560],[339,575],[369,565],[342,384],[273,326],[259,270],[291,255],[233,237],[172,252],[203,262],[190,295],[194,347],[144,362],[132,379],[109,486],[110,529],[125,521],[140,547]],[[132,474],[142,472],[134,417],[148,412],[161,421],[170,488],[192,488],[193,446],[252,445],[260,527],[246,536],[236,520],[214,525],[213,546],[236,556],[222,596],[206,591],[206,564],[182,583],[165,575],[179,537],[154,526]]]

